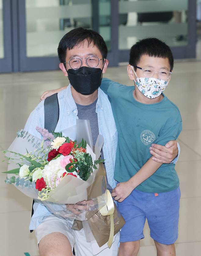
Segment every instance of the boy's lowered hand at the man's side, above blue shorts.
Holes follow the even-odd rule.
[[[130,181],[121,182],[118,183],[116,187],[112,190],[111,196],[114,198],[115,201],[118,201],[120,203],[130,195],[133,189],[134,188],[131,186]]]

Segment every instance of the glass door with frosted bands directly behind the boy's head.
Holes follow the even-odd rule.
[[[174,58],[195,58],[196,0],[119,0],[119,56],[128,62],[138,40],[156,37]]]

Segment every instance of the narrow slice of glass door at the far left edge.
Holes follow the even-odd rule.
[[[0,73],[12,71],[10,1],[0,0]]]

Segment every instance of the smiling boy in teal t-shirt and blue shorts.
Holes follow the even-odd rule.
[[[147,218],[157,255],[175,255],[180,190],[174,164],[152,160],[152,143],[165,145],[181,132],[178,108],[163,95],[170,82],[174,59],[162,41],[148,38],[130,50],[128,76],[136,86],[102,79],[117,131],[112,196],[126,220],[120,232],[119,256],[137,255]]]

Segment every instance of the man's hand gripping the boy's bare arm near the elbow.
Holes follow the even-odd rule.
[[[165,146],[152,144],[149,149],[152,160],[162,164],[170,164],[178,156],[177,141],[169,141]]]

